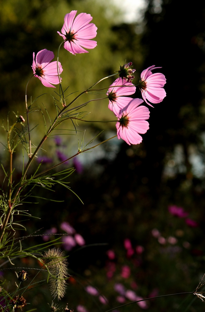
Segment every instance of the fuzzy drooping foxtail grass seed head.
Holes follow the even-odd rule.
[[[65,254],[59,248],[52,248],[43,255],[45,264],[50,272],[50,290],[54,298],[58,300],[64,297],[66,292],[66,279],[68,278],[67,260]]]

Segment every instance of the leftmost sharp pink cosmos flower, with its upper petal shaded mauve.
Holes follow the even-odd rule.
[[[53,58],[53,52],[46,49],[39,51],[36,55],[36,59],[35,53],[33,52],[32,69],[34,77],[40,79],[45,87],[55,88],[53,85],[58,85],[60,83],[58,78],[57,61],[51,62]],[[58,62],[58,68],[59,74],[61,74],[63,69],[60,62]]]

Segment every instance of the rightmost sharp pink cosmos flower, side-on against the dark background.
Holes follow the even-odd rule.
[[[166,78],[161,73],[152,73],[154,69],[161,67],[154,67],[155,65],[149,66],[147,69],[141,72],[139,80],[139,89],[141,90],[144,101],[152,106],[151,103],[160,103],[166,96],[164,85]],[[149,102],[148,102],[148,101]],[[152,106],[153,107],[153,106]]]

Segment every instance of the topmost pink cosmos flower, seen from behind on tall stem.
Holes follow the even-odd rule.
[[[77,11],[71,11],[64,17],[64,24],[58,34],[63,37],[64,48],[76,55],[76,53],[88,53],[83,48],[93,49],[97,42],[90,40],[97,35],[97,27],[90,23],[93,19],[90,14],[80,13],[76,18]]]

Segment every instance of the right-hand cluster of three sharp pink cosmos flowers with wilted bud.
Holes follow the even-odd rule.
[[[131,69],[132,62],[120,66],[119,78],[110,85],[107,96],[109,99],[108,108],[113,111],[118,118],[116,123],[118,139],[123,139],[127,144],[139,144],[144,134],[149,129],[149,109],[146,106],[139,106],[144,101],[152,106],[151,103],[160,103],[166,96],[164,85],[166,78],[161,73],[153,74],[151,70],[161,68],[150,66],[142,71],[139,80],[139,89],[142,99],[132,99],[127,95],[134,94],[136,87],[132,84],[135,69]],[[153,106],[152,106],[153,107]]]

